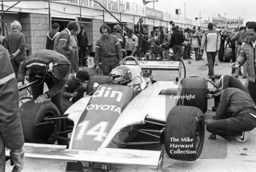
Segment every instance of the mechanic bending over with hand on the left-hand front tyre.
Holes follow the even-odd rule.
[[[39,50],[20,63],[18,85],[23,85],[26,71],[29,72],[29,82],[38,80],[31,86],[34,103],[40,103],[51,98],[60,114],[64,114],[61,90],[69,75],[70,63],[64,55],[53,50]],[[44,82],[49,90],[43,93]]]

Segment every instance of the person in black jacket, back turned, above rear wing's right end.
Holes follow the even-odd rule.
[[[184,36],[178,29],[178,26],[175,26],[173,29],[173,34],[170,38],[170,46],[173,48],[173,54],[178,55],[178,57],[181,58],[181,48],[182,43],[184,42]]]

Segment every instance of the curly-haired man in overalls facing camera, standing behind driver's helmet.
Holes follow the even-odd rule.
[[[96,71],[99,72],[99,63],[102,63],[103,75],[109,75],[110,71],[119,65],[119,61],[123,60],[123,52],[116,36],[110,34],[108,25],[103,24],[99,31],[102,36],[95,45]]]

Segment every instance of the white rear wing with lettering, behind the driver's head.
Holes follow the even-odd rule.
[[[164,70],[164,71],[180,71],[181,62],[179,61],[138,61],[141,69]],[[135,60],[125,61],[125,65],[135,65]]]

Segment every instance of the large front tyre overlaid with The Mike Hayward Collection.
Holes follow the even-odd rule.
[[[204,123],[203,112],[197,107],[175,106],[171,109],[165,122],[167,155],[175,160],[197,160],[203,149]]]

